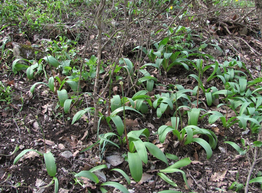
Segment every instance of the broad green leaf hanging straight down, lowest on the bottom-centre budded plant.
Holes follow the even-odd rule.
[[[135,181],[140,181],[143,174],[142,160],[139,157],[138,153],[128,152],[128,164],[132,178]]]

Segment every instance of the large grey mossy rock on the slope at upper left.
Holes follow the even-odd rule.
[[[37,54],[35,55],[35,52]],[[27,60],[39,60],[46,56],[46,53],[40,49],[25,44],[19,44],[13,42],[13,55],[16,59],[24,58]]]

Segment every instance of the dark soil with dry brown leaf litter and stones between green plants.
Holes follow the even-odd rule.
[[[162,18],[161,22],[165,23],[168,20]],[[161,28],[161,22],[155,28]],[[180,24],[182,25],[182,24]],[[188,25],[183,23],[183,25]],[[200,28],[200,26],[199,26]],[[201,26],[206,31],[210,30],[210,26]],[[199,29],[195,29],[200,32]],[[126,48],[122,53],[123,57],[129,58],[132,62],[135,63],[136,55],[132,52],[133,45],[139,45],[139,39],[136,39],[139,36],[140,29],[137,24],[132,26],[133,31],[132,41],[126,44]],[[203,30],[204,31],[204,30]],[[77,34],[77,30],[74,31]],[[137,32],[137,33],[136,33]],[[56,39],[59,41],[59,37],[54,34],[61,34],[62,31],[57,31],[56,29],[51,30],[42,30],[35,31],[32,33],[21,33],[17,26],[9,26],[1,31],[0,39],[4,39],[7,35],[12,34],[12,41],[9,41],[5,45],[5,48],[13,49],[14,43],[26,44],[26,45],[39,45],[41,46],[41,39]],[[75,35],[74,34],[74,35]],[[66,39],[74,39],[74,35],[67,34]],[[94,35],[96,35],[94,33]],[[38,38],[36,38],[36,36]],[[40,38],[41,37],[41,38]],[[236,38],[238,37],[238,38]],[[91,38],[94,38],[94,36]],[[106,41],[107,36],[103,37]],[[218,42],[222,49],[222,53],[214,49],[214,46],[208,46],[205,49],[206,53],[209,53],[215,60],[219,63],[223,63],[225,60],[231,60],[231,58],[241,58],[251,73],[252,77],[248,79],[254,79],[261,76],[261,58],[262,51],[261,47],[256,46],[257,44],[252,44],[252,41],[260,42],[258,37],[255,34],[250,33],[247,36],[241,36],[236,34],[235,36],[229,36],[226,34],[226,31],[221,31],[220,34],[214,33],[212,37],[209,34],[203,32],[202,39],[198,37],[192,38],[194,44],[193,47],[199,47],[200,41],[203,39],[212,40]],[[252,48],[256,51],[250,50],[250,47],[247,46],[243,41],[244,39],[250,45],[253,45]],[[81,42],[82,41],[82,42]],[[82,56],[84,50],[84,37],[81,37],[78,40],[75,50],[80,50],[78,52],[79,56]],[[136,43],[134,43],[136,42]],[[234,46],[232,46],[232,44]],[[2,42],[3,45],[3,42]],[[44,51],[49,45],[42,45],[41,49]],[[116,45],[115,45],[116,46]],[[86,58],[91,55],[97,55],[97,42],[94,39],[91,39],[91,45],[88,47]],[[50,52],[48,52],[50,53]],[[105,51],[102,55],[103,67],[105,72],[108,70],[110,65],[111,58],[114,58],[114,47],[108,45],[105,48]],[[55,55],[54,55],[55,56]],[[12,58],[10,54],[9,58]],[[197,58],[196,58],[197,59]],[[35,82],[46,82],[45,76],[42,74],[35,77],[34,80],[29,80],[26,76],[25,70],[19,71],[17,74],[12,72],[12,61],[5,58],[1,60],[1,76],[0,81],[5,87],[8,87],[10,90],[10,103],[2,101],[0,103],[0,153],[1,154],[10,154],[14,151],[16,145],[19,146],[18,152],[14,153],[12,156],[1,156],[0,157],[0,179],[3,182],[8,174],[11,174],[9,178],[4,183],[1,183],[0,192],[35,192],[38,189],[35,188],[40,182],[47,185],[52,180],[45,169],[43,160],[39,157],[39,154],[30,152],[26,154],[26,157],[21,159],[17,164],[13,164],[14,158],[24,149],[37,149],[38,151],[45,151],[45,143],[48,151],[51,151],[56,162],[57,174],[56,177],[59,182],[59,192],[87,192],[86,188],[83,188],[79,184],[75,183],[74,174],[78,173],[81,170],[88,170],[92,166],[99,164],[108,164],[109,161],[106,157],[111,155],[118,156],[119,160],[123,159],[122,155],[127,153],[127,149],[118,149],[114,146],[108,146],[104,149],[103,159],[100,160],[99,153],[101,151],[99,145],[94,146],[86,152],[80,153],[79,151],[83,150],[85,145],[93,144],[96,142],[96,134],[91,134],[91,129],[93,127],[93,120],[89,114],[85,114],[80,120],[76,121],[73,125],[72,117],[77,112],[75,107],[70,109],[69,113],[65,114],[63,108],[58,105],[58,99],[56,96],[50,92],[50,90],[45,85],[37,85],[34,93],[30,93],[29,90]],[[50,69],[46,69],[48,73],[51,74]],[[150,69],[148,70],[150,71]],[[174,67],[166,75],[162,70],[161,75],[159,72],[150,71],[161,85],[153,88],[150,92],[150,96],[163,92],[167,87],[165,85],[169,84],[180,84],[183,85],[185,89],[194,89],[198,82],[189,76],[192,72],[185,69],[183,66]],[[103,76],[105,73],[101,73]],[[204,77],[208,77],[204,74]],[[107,83],[108,78],[104,82],[99,83],[99,89],[103,89]],[[121,89],[119,89],[119,84],[117,81],[114,81],[113,93],[121,94]],[[211,87],[215,86],[218,89],[224,89],[224,86],[221,81],[212,80],[208,82],[205,86]],[[93,101],[88,92],[92,92],[93,84],[83,82],[81,88],[83,89],[83,104],[78,105],[79,110],[86,108],[86,104],[93,106]],[[132,95],[132,93],[130,94]],[[129,96],[127,96],[129,97]],[[131,96],[132,97],[132,96]],[[192,96],[192,101],[196,96]],[[108,92],[102,98],[108,98]],[[200,97],[202,103],[200,103],[200,108],[205,109],[206,111],[217,110],[225,113],[225,108],[219,107],[212,104],[211,106],[204,105],[205,96],[200,92]],[[195,99],[194,99],[195,100]],[[75,109],[74,109],[75,108]],[[108,111],[108,103],[101,104],[100,112],[106,114]],[[154,171],[158,169],[163,169],[163,162],[155,161],[153,156],[150,156],[150,162],[143,165],[143,178],[139,182],[131,180],[131,184],[128,185],[126,180],[122,178],[122,175],[112,172],[104,172],[106,180],[116,181],[124,185],[129,189],[130,192],[159,192],[161,190],[177,190],[181,192],[234,192],[233,190],[228,190],[227,188],[236,181],[237,183],[244,184],[247,180],[247,175],[250,168],[249,161],[253,159],[252,152],[248,151],[245,155],[239,155],[239,153],[230,145],[223,143],[224,141],[232,141],[236,144],[241,145],[241,138],[248,140],[250,142],[257,140],[258,134],[251,135],[250,132],[245,132],[243,128],[239,128],[238,124],[234,124],[228,129],[223,128],[222,124],[218,121],[216,125],[209,124],[206,117],[203,120],[199,121],[198,126],[200,128],[207,128],[216,133],[217,136],[217,147],[213,150],[212,156],[210,159],[206,158],[205,150],[198,144],[192,143],[187,146],[179,146],[177,141],[173,138],[172,134],[167,135],[165,143],[161,144],[158,139],[158,135],[152,135],[157,132],[158,128],[161,125],[169,124],[170,116],[174,111],[169,112],[168,115],[162,115],[161,118],[158,118],[156,111],[154,109],[150,110],[148,113],[143,116],[135,113],[127,113],[127,129],[138,130],[142,128],[148,128],[150,131],[150,142],[161,146],[165,149],[165,152],[174,154],[179,157],[179,159],[189,157],[192,162],[182,168],[186,173],[188,184],[191,187],[191,190],[185,185],[183,176],[181,173],[172,173],[168,176],[173,180],[178,186],[172,187],[165,181],[163,181],[159,176],[157,176]],[[230,112],[232,113],[232,111]],[[183,119],[184,124],[187,124],[187,120]],[[45,135],[45,143],[43,140],[43,135]],[[114,129],[114,128],[113,128]],[[110,132],[108,125],[100,125],[100,133]],[[64,156],[62,153],[69,151],[72,154],[69,156]],[[171,162],[171,160],[170,160]],[[175,161],[174,161],[175,162]],[[128,169],[128,162],[122,160],[122,163],[118,166],[111,166],[112,168],[120,168],[129,176],[130,171]],[[254,173],[261,172],[261,165],[257,164],[255,166]],[[21,186],[15,188],[14,185],[21,182]],[[5,186],[4,186],[5,185]],[[86,186],[91,189],[93,192],[97,192],[96,185],[90,182],[86,182]],[[92,190],[94,189],[94,190]],[[40,191],[41,190],[41,191]],[[39,189],[37,192],[52,192],[53,186],[47,187],[46,189]],[[118,192],[118,190],[111,189],[112,192]],[[260,185],[258,183],[250,184],[250,192],[262,192]],[[240,191],[240,192],[243,192]]]

